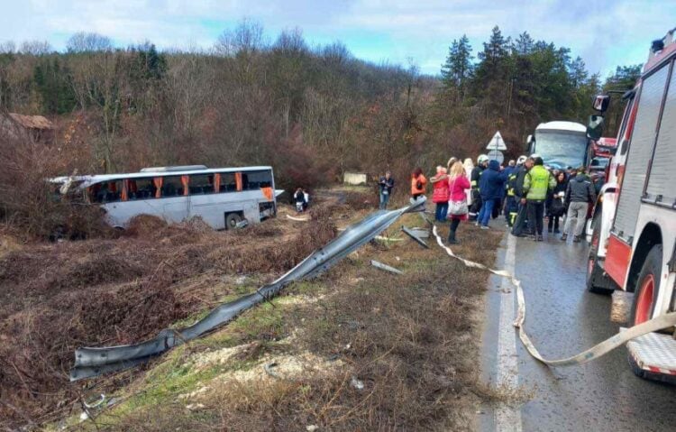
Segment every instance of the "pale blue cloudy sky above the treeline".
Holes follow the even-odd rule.
[[[310,45],[343,41],[364,60],[437,74],[453,39],[466,33],[474,53],[498,25],[527,31],[580,55],[605,77],[617,65],[643,63],[650,41],[676,26],[675,0],[0,0],[0,42],[46,40],[63,50],[74,32],[98,32],[126,46],[211,47],[242,18],[270,39],[299,27]]]

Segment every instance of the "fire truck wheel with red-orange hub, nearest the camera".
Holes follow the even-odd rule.
[[[657,290],[661,279],[662,244],[655,244],[645,257],[634,294],[631,323],[634,326],[648,321],[653,316]]]

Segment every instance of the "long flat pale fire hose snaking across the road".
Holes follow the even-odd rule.
[[[544,364],[547,364],[548,366],[572,366],[575,364],[587,363],[592,360],[598,359],[599,357],[602,357],[603,355],[611,352],[620,345],[625,345],[627,342],[629,342],[632,339],[635,339],[636,337],[647,335],[649,333],[653,333],[655,331],[662,330],[670,326],[676,326],[676,313],[664,314],[660,317],[655,317],[649,321],[639,324],[638,326],[627,328],[625,331],[620,332],[612,337],[609,337],[600,344],[594,345],[580,354],[576,354],[571,357],[560,360],[547,360],[537,351],[537,348],[535,348],[530,338],[525,333],[524,329],[525,297],[524,290],[521,287],[521,281],[517,280],[516,277],[513,274],[509,273],[508,271],[493,270],[484,264],[481,264],[479,262],[472,262],[470,260],[462,258],[461,256],[456,255],[455,253],[452,252],[450,247],[443,244],[443,240],[437,232],[436,225],[433,226],[432,233],[434,234],[434,237],[436,238],[436,243],[439,244],[439,247],[445,250],[446,253],[448,253],[449,256],[451,256],[452,258],[461,261],[465,266],[484,271],[489,271],[497,276],[509,280],[509,282],[516,289],[516,300],[518,303],[518,309],[516,319],[514,321],[514,326],[517,328],[519,339],[521,339],[521,342],[524,344],[526,351],[528,351],[528,354],[531,354],[536,360]]]

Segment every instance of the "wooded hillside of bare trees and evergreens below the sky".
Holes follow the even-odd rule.
[[[497,129],[518,154],[536,124],[586,123],[599,88],[631,87],[639,69],[602,83],[567,48],[498,27],[488,36],[452,41],[438,78],[356,59],[340,42],[310,47],[299,30],[269,41],[250,21],[206,51],[117,48],[91,33],[65,52],[5,43],[0,109],[58,124],[58,152],[40,152],[59,159],[50,174],[271,164],[283,186],[314,186],[343,170],[432,170],[476,156]]]

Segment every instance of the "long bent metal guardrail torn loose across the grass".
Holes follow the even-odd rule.
[[[149,361],[152,357],[162,354],[174,346],[204,335],[233,320],[234,317],[261,301],[276,296],[289,283],[313,278],[322,271],[328,270],[349,253],[370,242],[376,235],[392,225],[399,216],[407,212],[420,211],[424,206],[425,199],[421,198],[416,201],[412,200],[407,207],[371,213],[360,222],[350,225],[329,244],[311,253],[278,280],[251,294],[242,296],[240,299],[218,306],[192,326],[180,330],[164,329],[152,339],[136,345],[78,348],[75,351],[75,364],[70,371],[70,381],[78,381],[102,373],[131,368]]]

